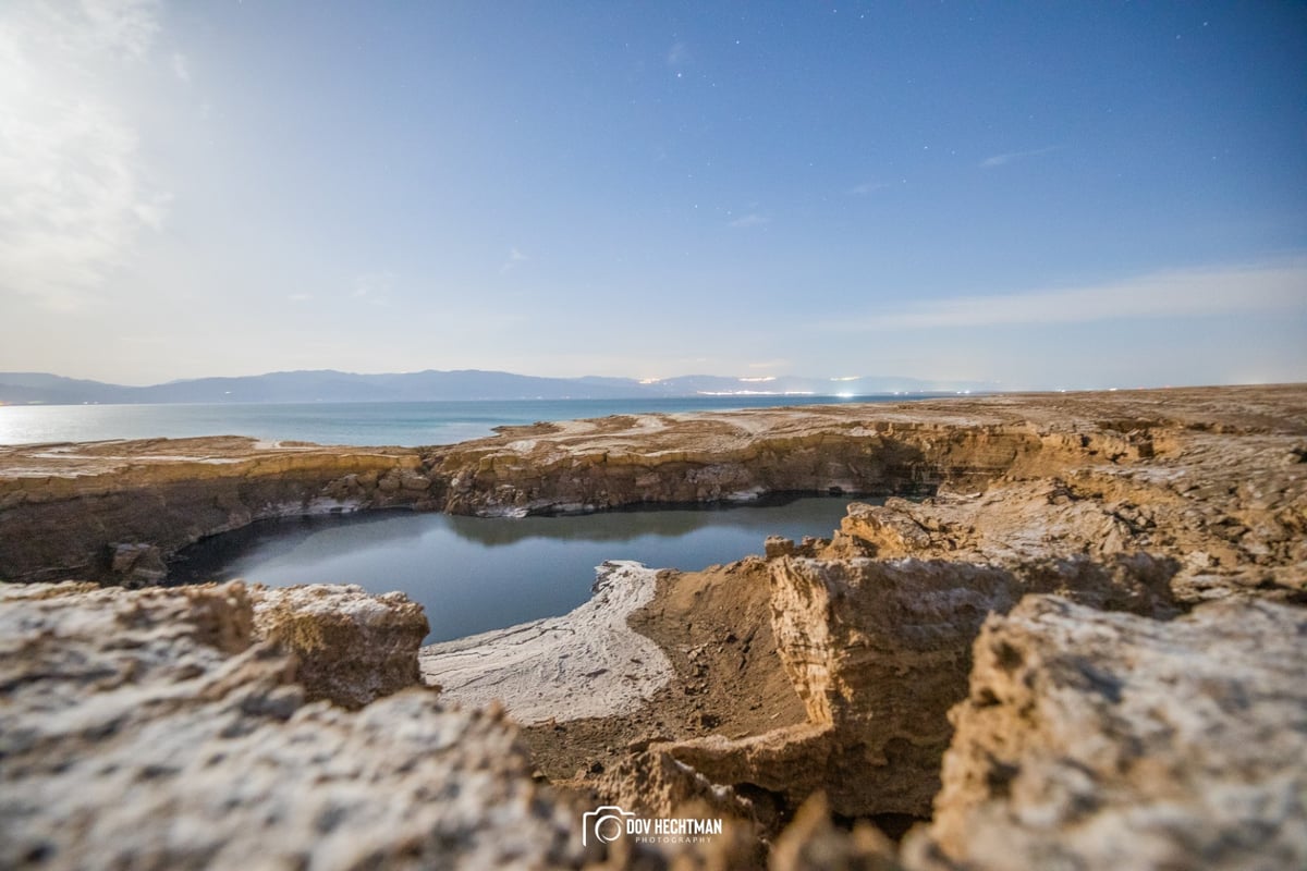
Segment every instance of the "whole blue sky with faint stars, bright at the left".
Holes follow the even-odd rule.
[[[0,3],[0,371],[1307,380],[1300,3]]]

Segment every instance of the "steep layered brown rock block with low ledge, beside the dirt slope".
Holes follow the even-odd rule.
[[[987,614],[1057,590],[1098,607],[1171,615],[1171,573],[1146,555],[1012,568],[775,558],[772,632],[808,722],[668,751],[714,782],[758,785],[792,806],[825,791],[843,816],[927,816],[951,736],[946,713],[966,695],[971,642]],[[846,776],[852,770],[859,777]]]

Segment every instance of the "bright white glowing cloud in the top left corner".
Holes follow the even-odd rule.
[[[148,182],[136,125],[114,98],[142,59],[158,4],[0,8],[0,289],[72,311],[158,230],[171,196]]]

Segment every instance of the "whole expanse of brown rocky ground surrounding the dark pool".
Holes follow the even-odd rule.
[[[397,595],[0,586],[0,864],[1299,867],[1304,460],[1299,385],[650,415],[412,452],[4,449],[8,580],[146,584],[267,512],[891,498],[830,539],[642,575],[617,629],[656,644],[661,676],[599,710],[563,692],[552,717],[454,703],[468,663],[451,697],[425,687],[443,666],[420,667],[425,618]],[[725,829],[586,841],[601,804]]]

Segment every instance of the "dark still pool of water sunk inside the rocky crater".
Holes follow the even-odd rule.
[[[430,644],[566,614],[589,598],[604,560],[693,571],[761,554],[767,535],[829,537],[847,504],[805,496],[570,517],[386,512],[267,521],[187,548],[171,580],[401,590],[426,609]]]

